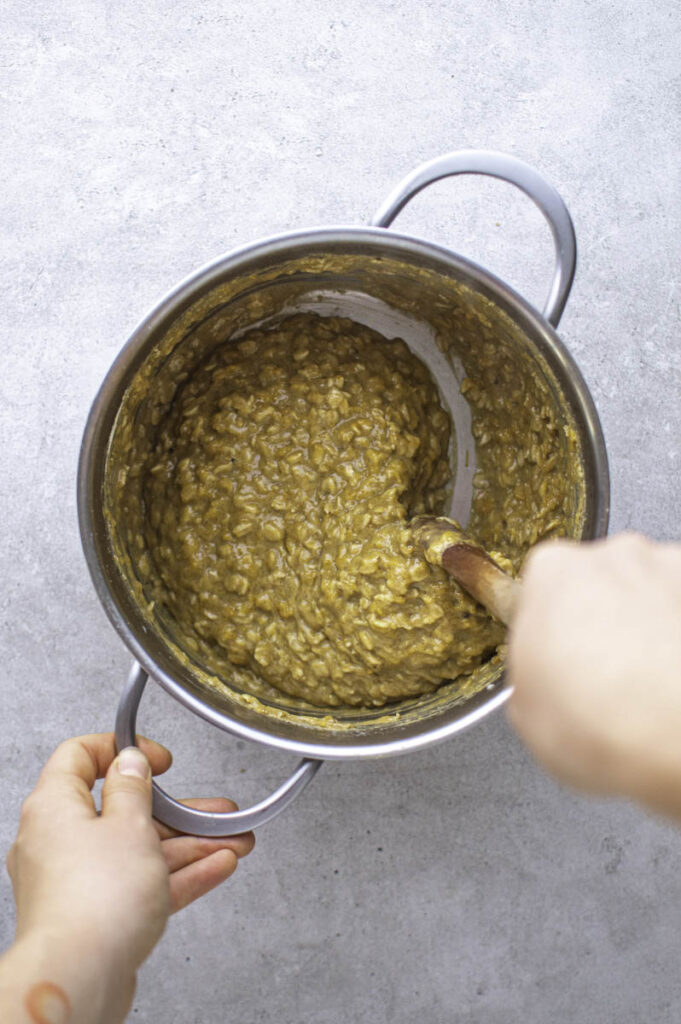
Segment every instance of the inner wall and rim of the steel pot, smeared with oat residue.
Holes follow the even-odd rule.
[[[141,325],[102,386],[87,481],[99,593],[147,671],[222,728],[325,757],[394,753],[469,724],[503,699],[503,652],[463,683],[445,683],[427,696],[376,710],[320,709],[273,690],[255,697],[235,678],[217,678],[200,653],[177,641],[172,618],[155,604],[148,573],[140,571],[140,524],[120,481],[139,473],[144,444],[212,348],[300,311],[348,316],[400,337],[429,367],[452,415],[455,482],[445,512],[464,525],[477,459],[461,384],[471,360],[492,353],[518,402],[550,410],[550,428],[560,438],[552,471],[564,483],[557,531],[576,539],[603,532],[607,496],[595,411],[579,371],[539,315],[484,271],[433,247],[379,231],[355,231],[355,240],[348,240],[352,232],[339,233],[254,247],[170,296]],[[521,490],[539,496],[543,471],[525,461],[507,474],[504,487],[510,498]],[[524,549],[556,531],[539,514],[526,526]],[[478,536],[487,547],[505,550],[503,525],[494,536],[479,529]]]

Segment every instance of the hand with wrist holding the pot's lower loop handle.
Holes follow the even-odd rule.
[[[166,771],[171,755],[151,740],[139,742],[143,754],[129,748],[118,758],[112,734],[61,743],[25,801],[7,857],[15,945],[19,954],[30,951],[33,962],[44,962],[48,979],[56,973],[60,980],[53,983],[71,1002],[74,1024],[81,1004],[88,1007],[83,1021],[123,1020],[136,971],[169,913],[228,878],[254,844],[252,834],[199,839],[155,822],[152,773]],[[98,816],[90,791],[103,776]],[[235,809],[225,800],[190,803]],[[92,977],[95,991],[87,987]]]

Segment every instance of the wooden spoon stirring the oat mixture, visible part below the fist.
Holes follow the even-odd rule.
[[[510,625],[520,597],[520,583],[497,565],[484,548],[444,516],[420,515],[410,525],[432,565],[439,565],[483,604],[495,618]]]

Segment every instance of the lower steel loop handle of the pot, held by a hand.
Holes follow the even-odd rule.
[[[134,662],[116,713],[116,745],[119,751],[135,743],[137,708],[147,679],[148,676],[142,667]],[[239,836],[271,821],[295,800],[308,782],[312,781],[322,764],[322,761],[304,758],[293,775],[271,796],[253,807],[248,807],[245,811],[228,811],[220,814],[186,807],[154,782],[154,817],[171,828],[191,836]]]

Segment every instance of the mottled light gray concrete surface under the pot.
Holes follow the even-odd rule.
[[[226,249],[366,222],[450,150],[536,165],[577,225],[561,334],[605,428],[612,527],[679,539],[676,0],[3,9],[3,848],[53,745],[111,727],[129,660],[77,532],[89,403],[142,314]],[[400,227],[541,304],[548,232],[510,187],[440,183]],[[245,804],[291,765],[161,692],[142,719],[175,751],[178,793]],[[4,877],[0,899],[6,942]],[[327,766],[172,922],[130,1020],[668,1024],[680,907],[678,830],[562,791],[498,715],[406,759]]]

